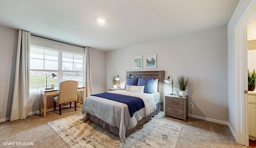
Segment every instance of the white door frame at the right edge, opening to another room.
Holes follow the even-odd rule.
[[[236,57],[236,142],[249,146],[247,76],[247,26],[256,18],[256,0],[252,0],[235,26]]]

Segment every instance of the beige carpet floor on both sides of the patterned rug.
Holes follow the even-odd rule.
[[[74,107],[59,111],[47,112],[47,117],[36,114],[24,120],[0,123],[0,148],[20,148],[20,146],[3,146],[4,142],[33,142],[34,146],[24,148],[69,148],[67,144],[47,124],[54,120],[79,114],[81,107],[74,111]],[[176,148],[247,148],[237,144],[228,126],[196,118],[188,118],[187,122],[164,117],[164,112],[154,118],[164,118],[170,124],[182,126],[182,131]]]

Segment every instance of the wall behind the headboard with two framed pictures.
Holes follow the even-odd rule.
[[[146,69],[147,54],[157,54],[157,68]],[[107,86],[112,88],[111,77],[119,74],[120,86],[124,88],[126,71],[133,70],[133,57],[142,56],[143,69],[164,70],[165,77],[188,76],[191,85],[186,90],[188,103],[194,103],[192,114],[228,121],[228,59],[227,27],[214,28],[131,46],[106,53]],[[165,84],[165,93],[171,92]],[[189,111],[190,113],[190,111]]]

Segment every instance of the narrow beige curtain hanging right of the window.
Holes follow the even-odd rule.
[[[92,94],[92,51],[90,47],[85,50],[85,98]]]

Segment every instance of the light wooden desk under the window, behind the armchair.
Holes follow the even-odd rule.
[[[85,92],[85,87],[79,87],[77,89],[77,103],[80,103],[80,104],[83,104],[84,103],[84,92]],[[40,113],[44,112],[44,117],[46,117],[46,110],[47,110],[47,107],[46,107],[46,101],[47,101],[47,96],[49,95],[53,95],[53,94],[58,94],[59,93],[59,90],[58,89],[41,89],[41,105],[40,105]],[[79,102],[79,98],[80,98],[80,95],[81,95],[81,98],[82,98],[82,102]],[[50,105],[52,106],[52,104]]]

